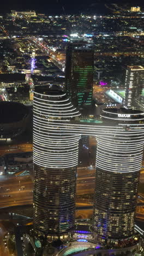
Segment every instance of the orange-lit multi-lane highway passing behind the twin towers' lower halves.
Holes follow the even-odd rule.
[[[82,200],[83,194],[94,193],[95,168],[93,167],[81,167],[77,170],[77,184],[76,195],[79,196],[77,203],[79,206],[84,207],[87,203],[91,204],[88,200]],[[140,181],[144,181],[144,171],[141,172]],[[142,203],[144,199],[143,194],[140,195],[139,201]],[[33,203],[33,176],[18,176],[11,177],[0,176],[0,207],[10,207],[17,205],[28,205]],[[77,206],[78,206],[77,205]],[[89,216],[92,213],[91,210],[79,210],[76,215]],[[81,213],[81,214],[80,214]],[[137,217],[144,218],[143,208],[137,207]]]

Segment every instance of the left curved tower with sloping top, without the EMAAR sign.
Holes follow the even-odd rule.
[[[61,91],[37,86],[33,102],[34,228],[58,236],[74,226],[80,135],[55,130],[79,117]],[[58,123],[58,124],[57,124]]]

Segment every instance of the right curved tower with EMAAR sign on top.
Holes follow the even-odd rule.
[[[134,235],[144,117],[131,109],[105,109],[101,117],[123,130],[97,136],[93,229],[101,240],[121,240]]]

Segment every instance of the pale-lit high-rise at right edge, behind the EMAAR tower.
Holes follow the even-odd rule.
[[[144,68],[142,66],[128,66],[125,74],[124,106],[126,108],[141,108],[142,88],[144,88]]]

